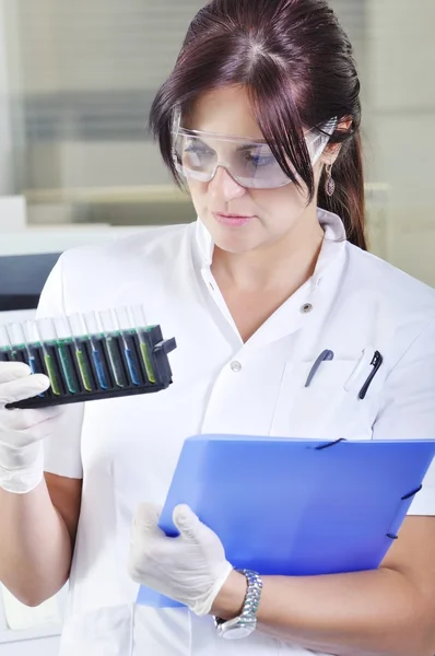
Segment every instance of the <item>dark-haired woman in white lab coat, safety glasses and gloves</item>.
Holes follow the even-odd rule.
[[[62,656],[435,652],[433,476],[373,572],[264,576],[261,589],[189,508],[175,513],[180,539],[157,528],[192,434],[435,437],[435,295],[365,251],[358,92],[322,0],[212,0],[151,114],[198,222],[67,253],[39,307],[144,303],[177,338],[174,385],[5,411],[47,380],[1,364],[1,578],[35,605],[69,577]],[[334,359],[306,388],[325,349]],[[138,607],[139,583],[185,608]],[[257,631],[224,640],[248,585]]]

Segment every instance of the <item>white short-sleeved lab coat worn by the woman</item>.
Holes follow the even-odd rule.
[[[210,617],[185,609],[137,607],[127,560],[136,507],[164,502],[189,435],[435,437],[434,290],[345,242],[338,216],[319,211],[319,220],[326,238],[313,279],[245,344],[200,222],[74,249],[55,268],[39,316],[143,303],[148,321],[178,342],[168,390],[71,406],[71,429],[47,444],[47,471],[83,477],[61,656],[308,654],[260,632],[223,641]],[[305,388],[324,349],[334,359]],[[355,367],[375,349],[384,364],[361,401],[367,367]],[[411,513],[435,514],[433,473]]]

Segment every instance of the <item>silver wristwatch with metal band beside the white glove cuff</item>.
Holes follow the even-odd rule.
[[[248,588],[242,613],[233,620],[214,618],[214,623],[220,637],[226,640],[238,640],[247,637],[257,629],[257,610],[260,602],[262,581],[257,572],[250,570],[237,570],[246,576]]]

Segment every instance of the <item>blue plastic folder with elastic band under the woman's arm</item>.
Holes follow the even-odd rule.
[[[262,575],[377,569],[435,456],[434,441],[186,440],[160,526],[188,504],[235,567]],[[180,605],[141,587],[138,604]]]

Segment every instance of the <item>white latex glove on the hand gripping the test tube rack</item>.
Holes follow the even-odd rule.
[[[7,409],[8,403],[22,401],[48,389],[44,374],[31,375],[22,362],[0,362],[0,488],[25,494],[44,476],[43,440],[52,431],[54,420],[62,413],[60,407],[38,410]]]

